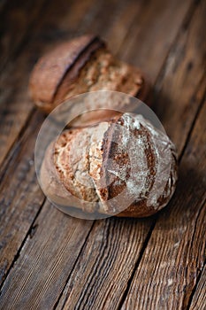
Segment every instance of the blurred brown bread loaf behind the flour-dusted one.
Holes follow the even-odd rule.
[[[83,35],[40,58],[29,89],[35,105],[49,113],[65,99],[95,90],[117,90],[144,101],[149,84],[139,69],[114,58],[100,38]]]

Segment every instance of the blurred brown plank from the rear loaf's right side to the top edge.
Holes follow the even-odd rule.
[[[147,68],[147,74],[154,83],[172,42],[182,27],[183,17],[187,12],[190,15],[194,9],[195,3],[192,1],[146,2],[129,29],[124,49],[119,52],[120,57],[140,66],[142,70]]]

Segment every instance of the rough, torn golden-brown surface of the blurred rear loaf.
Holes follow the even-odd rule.
[[[138,69],[118,61],[106,49],[100,49],[95,51],[80,70],[78,78],[70,84],[65,99],[100,89],[116,90],[135,96],[143,82]],[[115,108],[114,105],[111,107]]]

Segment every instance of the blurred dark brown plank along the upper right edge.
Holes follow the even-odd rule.
[[[179,154],[205,91],[205,16],[206,3],[201,1],[190,24],[181,28],[156,81],[154,111]]]

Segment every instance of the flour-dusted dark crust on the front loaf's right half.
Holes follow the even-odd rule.
[[[126,114],[123,114],[116,120],[116,124],[120,124],[123,127],[126,127]],[[175,190],[175,184],[177,181],[177,153],[173,143],[167,139],[166,136],[156,131],[155,135],[151,133],[155,130],[149,124],[147,120],[141,120],[139,128],[136,128],[133,124],[133,120],[129,120],[129,131],[131,135],[127,138],[127,142],[122,148],[122,142],[126,140],[126,136],[122,134],[122,132],[118,131],[116,127],[110,127],[107,132],[104,134],[103,140],[103,162],[108,163],[108,159],[111,160],[107,164],[107,166],[102,166],[101,169],[101,176],[103,180],[106,180],[106,183],[109,184],[106,188],[100,190],[101,200],[105,205],[111,201],[111,199],[118,197],[118,195],[123,191],[126,190],[125,199],[131,199],[129,195],[129,191],[132,191],[134,187],[138,189],[138,186],[141,186],[141,183],[145,183],[144,188],[139,192],[136,191],[136,198],[131,204],[128,204],[128,207],[117,216],[134,216],[134,217],[145,217],[156,213],[158,210],[162,209],[164,205],[166,205],[170,198],[172,198],[172,194]],[[134,138],[133,138],[134,137]],[[146,159],[146,175],[145,178],[141,178],[141,182],[135,182],[135,175],[139,172],[142,173],[142,166],[139,165],[141,161],[141,157],[136,158],[133,162],[131,159],[135,156],[135,148],[138,144],[133,143],[133,140],[142,140],[141,149],[143,151],[143,157]],[[114,143],[113,141],[118,141],[120,143]],[[156,146],[157,144],[157,146]],[[160,145],[162,144],[162,145]],[[120,147],[119,147],[120,145]],[[169,159],[161,159],[159,156],[156,155],[158,151],[157,148],[159,147],[159,151],[161,147],[167,149],[168,151],[164,152],[164,156],[169,156]],[[129,151],[127,150],[132,150]],[[134,151],[133,151],[134,150]],[[138,150],[136,150],[138,151]],[[160,151],[161,152],[161,151]],[[164,165],[161,161],[165,161]],[[170,165],[170,170],[168,169],[168,180],[165,180],[164,173],[164,188],[162,184],[162,190],[158,192],[158,186],[156,186],[156,178],[161,177],[161,169],[165,170],[165,167]],[[121,170],[125,170],[125,173],[119,173]],[[115,177],[114,177],[115,175]],[[133,188],[130,189],[131,183]],[[149,198],[151,194],[151,190],[153,187],[156,187],[156,199]],[[118,199],[120,202],[120,200]],[[114,206],[117,202],[114,202]],[[110,204],[112,208],[112,204]],[[112,211],[112,210],[111,210]]]

